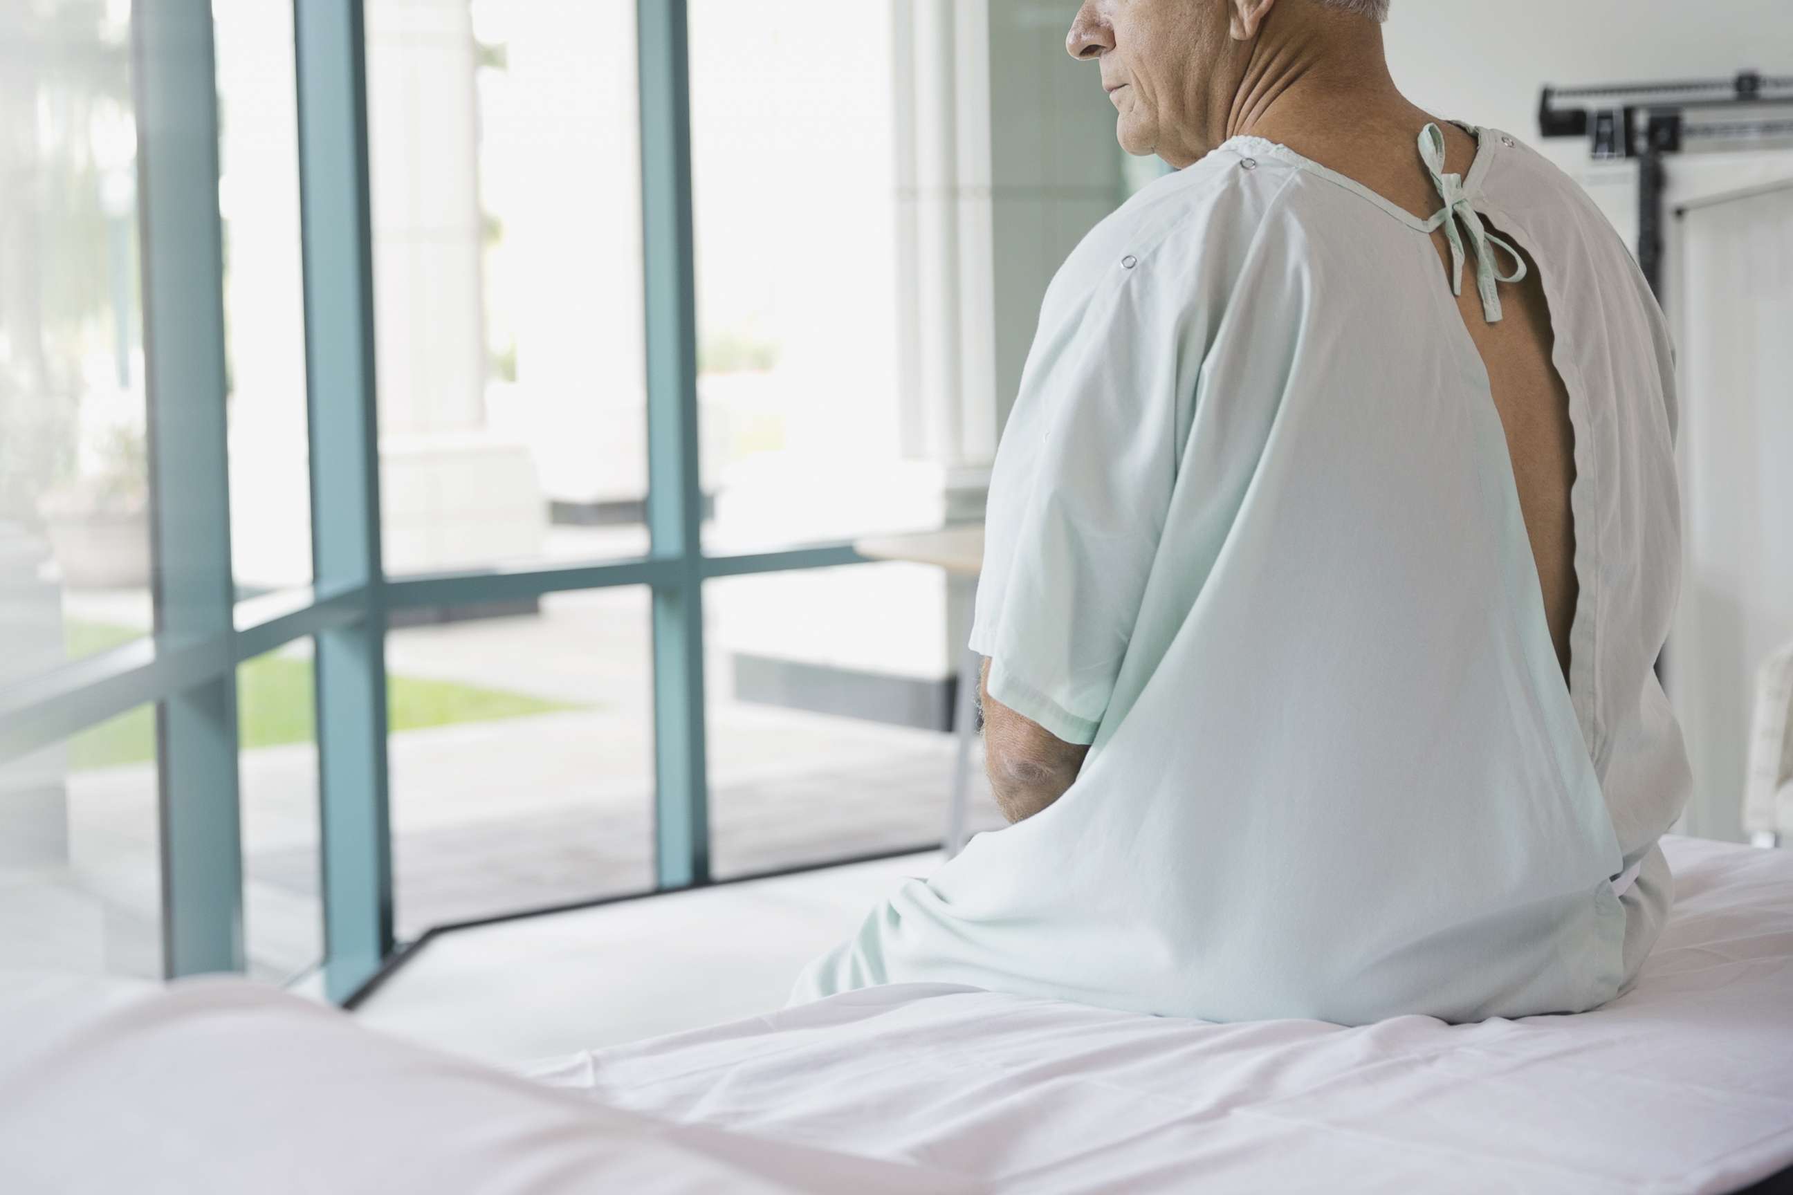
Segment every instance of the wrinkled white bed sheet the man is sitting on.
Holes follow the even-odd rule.
[[[1793,853],[1664,847],[1675,914],[1580,1016],[1210,1025],[914,984],[534,1075],[999,1191],[1730,1191],[1793,1165]]]

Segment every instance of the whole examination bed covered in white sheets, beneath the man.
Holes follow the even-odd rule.
[[[1675,914],[1633,991],[1479,1025],[891,985],[520,1077],[247,984],[18,976],[0,1188],[1771,1190],[1793,1166],[1793,853],[1666,849]]]

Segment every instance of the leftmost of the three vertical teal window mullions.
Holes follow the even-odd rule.
[[[230,659],[233,589],[212,9],[133,13],[156,634]],[[163,967],[240,971],[242,830],[231,666],[156,706]]]

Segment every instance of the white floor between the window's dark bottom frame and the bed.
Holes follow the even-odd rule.
[[[457,930],[357,1016],[454,1053],[522,1062],[769,1012],[879,896],[938,864],[905,855]]]

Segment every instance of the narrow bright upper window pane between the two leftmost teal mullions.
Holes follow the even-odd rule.
[[[292,5],[213,5],[231,568],[238,597],[312,580]]]

